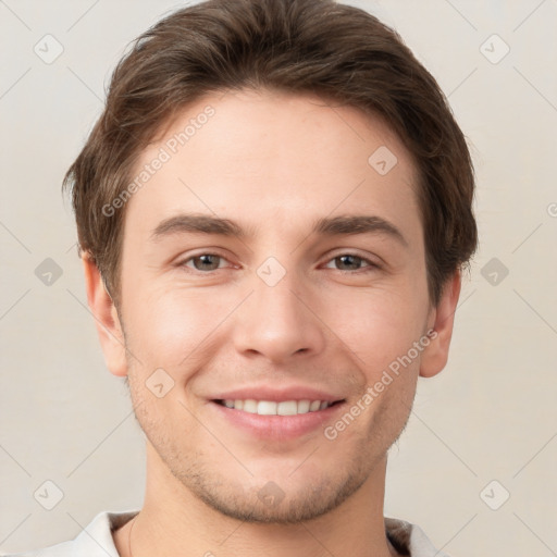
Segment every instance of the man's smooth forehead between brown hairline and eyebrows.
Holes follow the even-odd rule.
[[[193,211],[251,231],[363,208],[410,235],[420,226],[417,169],[396,134],[376,115],[312,95],[207,95],[161,129],[134,178],[126,221],[146,234]]]

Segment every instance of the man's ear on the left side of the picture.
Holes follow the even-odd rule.
[[[88,252],[82,255],[87,302],[95,318],[104,361],[111,373],[127,375],[126,350],[120,318],[97,264]]]

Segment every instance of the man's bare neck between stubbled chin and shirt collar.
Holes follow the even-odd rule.
[[[121,557],[392,557],[383,499],[386,458],[336,509],[297,524],[248,523],[226,517],[194,496],[147,444],[147,488],[137,517],[114,534]],[[128,549],[129,530],[132,530]]]

